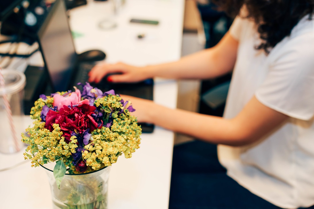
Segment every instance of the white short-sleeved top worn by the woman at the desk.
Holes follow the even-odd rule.
[[[314,205],[314,20],[308,17],[268,55],[254,49],[260,43],[254,22],[235,19],[230,34],[239,47],[224,117],[235,117],[255,95],[290,118],[249,146],[218,146],[231,178],[291,209]]]

